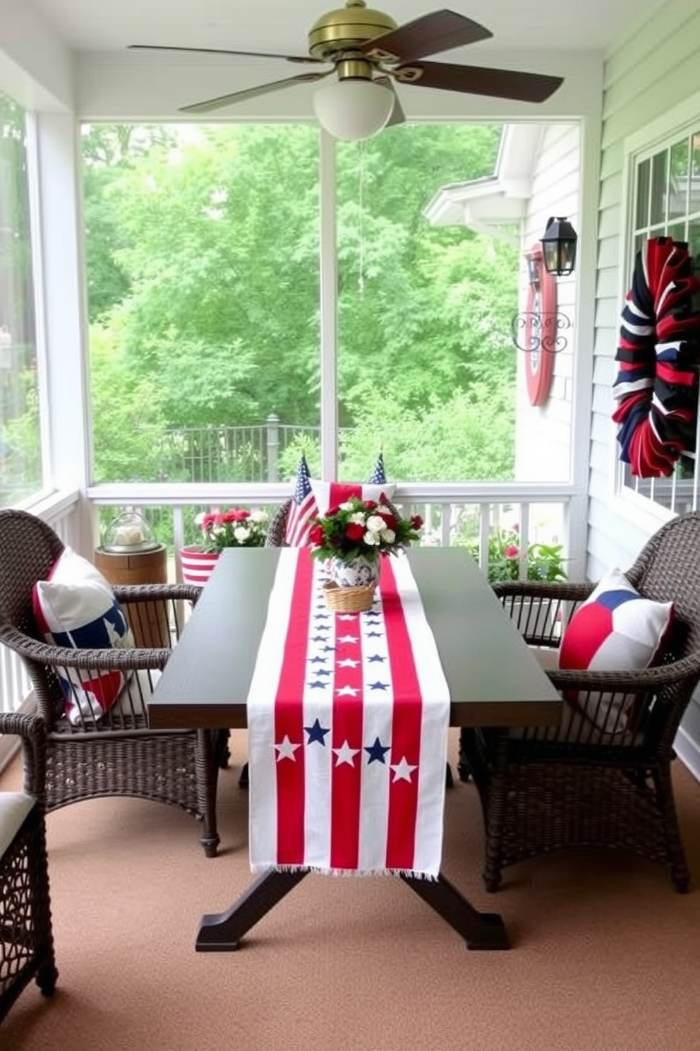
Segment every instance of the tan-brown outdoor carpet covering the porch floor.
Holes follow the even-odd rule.
[[[399,880],[307,877],[238,952],[195,953],[205,911],[249,884],[245,735],[221,775],[221,854],[198,825],[135,800],[48,817],[59,983],[31,986],[2,1051],[696,1051],[700,1049],[700,785],[677,764],[694,872],[559,854],[482,887],[472,785],[447,794],[444,872],[513,948],[468,952]],[[452,763],[455,761],[452,737]],[[18,783],[17,764],[0,786]],[[697,889],[696,889],[697,888]]]

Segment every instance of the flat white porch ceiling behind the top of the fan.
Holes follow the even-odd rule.
[[[121,50],[130,43],[231,47],[306,54],[311,25],[343,0],[25,0],[71,48]],[[662,0],[445,0],[481,22],[493,39],[451,53],[488,64],[491,49],[595,49],[603,53],[638,27]],[[440,0],[369,3],[397,22],[434,11]],[[468,53],[468,58],[467,58]],[[443,61],[451,60],[444,53]],[[289,70],[289,66],[287,67]],[[288,74],[282,73],[281,76]]]

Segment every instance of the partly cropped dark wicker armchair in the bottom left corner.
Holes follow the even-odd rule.
[[[44,823],[44,725],[35,715],[0,714],[0,734],[17,734],[24,791],[0,792],[0,1022],[34,980],[56,987]]]

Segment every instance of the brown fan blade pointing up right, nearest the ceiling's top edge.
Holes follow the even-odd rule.
[[[379,62],[412,62],[424,55],[438,55],[451,47],[488,40],[492,36],[490,29],[464,15],[453,11],[433,11],[430,15],[400,25],[398,29],[367,40],[361,50]]]

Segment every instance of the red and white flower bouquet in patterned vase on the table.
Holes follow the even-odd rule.
[[[380,556],[396,555],[420,540],[420,515],[401,518],[382,494],[379,501],[352,496],[312,518],[312,558],[328,560],[338,586],[374,586]]]

